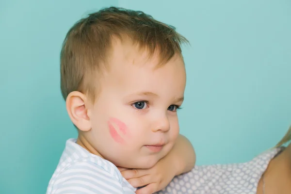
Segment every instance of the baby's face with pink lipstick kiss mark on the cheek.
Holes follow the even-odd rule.
[[[149,168],[164,157],[179,133],[177,109],[186,84],[183,60],[158,59],[116,44],[110,70],[90,111],[89,143],[116,166]]]

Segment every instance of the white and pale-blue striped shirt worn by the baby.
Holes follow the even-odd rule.
[[[134,194],[117,167],[76,144],[66,141],[46,194]]]

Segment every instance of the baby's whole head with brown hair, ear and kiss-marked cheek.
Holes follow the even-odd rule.
[[[61,89],[78,143],[127,168],[164,157],[179,133],[186,42],[143,12],[111,7],[78,21],[61,52]]]

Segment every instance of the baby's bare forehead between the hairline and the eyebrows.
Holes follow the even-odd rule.
[[[122,53],[124,53],[122,50],[116,52],[111,59],[111,67],[104,76],[102,88],[127,95],[137,93],[161,94],[160,96],[178,93],[176,95],[178,97],[183,95],[186,73],[181,57],[174,56],[169,62],[160,65],[157,58],[141,55],[130,55],[131,58],[125,58]]]

